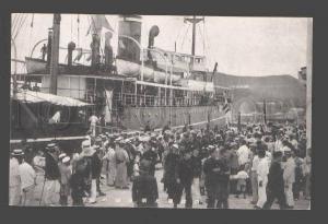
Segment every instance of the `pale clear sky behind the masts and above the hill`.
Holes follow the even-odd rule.
[[[17,58],[30,56],[36,42],[47,38],[52,14],[26,14],[26,21],[15,45]],[[13,17],[16,14],[12,14]],[[31,22],[33,17],[33,27]],[[117,31],[117,15],[106,15],[112,27]],[[86,36],[89,20],[80,15],[78,35],[78,15],[62,14],[60,46],[70,40],[90,49],[91,37]],[[191,25],[184,23],[184,16],[142,15],[142,46],[148,45],[149,30],[157,25],[160,34],[155,37],[155,47],[191,52]],[[117,38],[113,38],[114,49]],[[230,17],[204,16],[196,30],[196,55],[206,55],[208,68],[233,75],[278,75],[290,74],[297,78],[297,71],[306,66],[307,19],[306,17]],[[36,49],[35,55],[39,55]],[[13,54],[12,54],[13,58]]]

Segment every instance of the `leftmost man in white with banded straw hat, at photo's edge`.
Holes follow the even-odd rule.
[[[22,150],[14,150],[9,162],[9,205],[20,205],[21,176],[19,160],[24,155]]]

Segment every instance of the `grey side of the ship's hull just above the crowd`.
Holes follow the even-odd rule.
[[[152,129],[161,129],[168,122],[173,128],[180,128],[186,123],[202,128],[209,120],[211,126],[223,127],[224,113],[218,106],[126,107],[121,122],[128,130],[143,130],[148,123]]]

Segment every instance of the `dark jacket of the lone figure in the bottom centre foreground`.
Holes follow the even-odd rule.
[[[159,188],[156,178],[151,175],[141,174],[136,177],[132,185],[132,201],[138,205],[144,204],[142,199],[147,199],[145,205],[154,205],[159,199]]]

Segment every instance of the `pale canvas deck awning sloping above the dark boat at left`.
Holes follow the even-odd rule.
[[[10,96],[13,98],[12,91]],[[84,106],[92,105],[67,96],[58,96],[49,93],[40,93],[40,92],[23,91],[23,90],[19,91],[19,93],[16,93],[15,98],[13,99],[23,103],[32,103],[32,104],[50,103],[54,105],[68,106],[68,107],[84,107]]]

